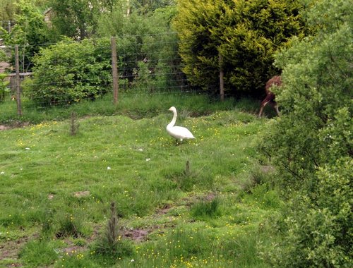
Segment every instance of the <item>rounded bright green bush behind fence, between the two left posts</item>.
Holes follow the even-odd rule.
[[[38,106],[67,105],[96,99],[112,81],[109,41],[59,42],[33,60],[33,78],[23,83]]]

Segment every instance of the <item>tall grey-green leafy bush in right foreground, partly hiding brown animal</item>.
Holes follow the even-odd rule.
[[[289,199],[280,243],[267,252],[279,267],[352,266],[352,4],[313,2],[316,35],[276,56],[283,116],[269,124],[262,150]]]

